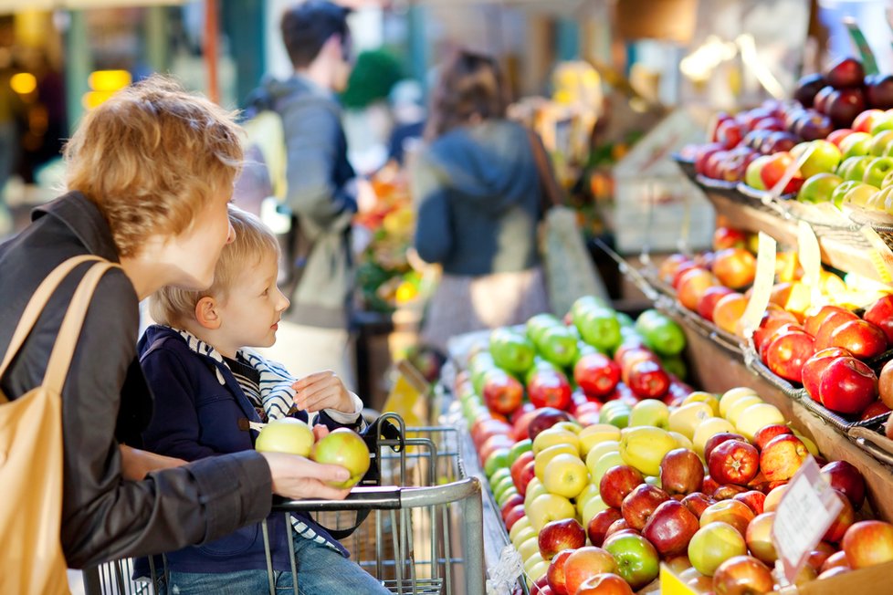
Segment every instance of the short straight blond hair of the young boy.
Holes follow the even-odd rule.
[[[185,320],[194,319],[195,305],[202,297],[225,301],[240,273],[259,265],[264,258],[278,262],[276,236],[255,215],[230,206],[229,223],[233,225],[236,239],[220,253],[214,283],[204,291],[162,287],[149,299],[149,314],[155,322],[182,327]]]

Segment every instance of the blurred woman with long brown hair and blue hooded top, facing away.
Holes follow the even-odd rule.
[[[460,50],[432,98],[415,162],[415,249],[443,267],[422,340],[517,324],[548,310],[537,250],[542,187],[534,134],[506,120],[506,91],[491,57]]]

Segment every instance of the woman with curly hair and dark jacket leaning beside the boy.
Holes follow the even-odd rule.
[[[0,245],[0,354],[35,288],[71,256],[120,263],[97,288],[62,391],[62,548],[70,568],[214,541],[268,516],[271,494],[342,498],[339,466],[244,451],[189,465],[137,457],[152,392],[136,358],[139,302],[165,285],[211,285],[231,239],[227,204],[242,159],[232,115],[161,77],[90,110],[65,149],[69,192]],[[74,287],[68,276],[0,390],[37,387]],[[128,449],[121,449],[127,444]]]

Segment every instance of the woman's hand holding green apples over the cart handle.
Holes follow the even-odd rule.
[[[323,498],[343,500],[351,490],[340,490],[324,482],[342,482],[351,476],[344,467],[320,465],[297,454],[262,453],[273,478],[273,493],[292,500]]]

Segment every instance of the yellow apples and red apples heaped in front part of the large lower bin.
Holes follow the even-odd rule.
[[[856,522],[865,499],[856,467],[825,464],[751,389],[693,392],[678,406],[642,400],[622,428],[552,409],[525,419],[528,437],[504,427],[507,445],[484,470],[531,592],[657,592],[661,560],[699,592],[771,591],[774,511],[809,454],[843,510],[798,582],[893,559],[893,527]],[[495,428],[478,420],[472,433],[487,440]]]

